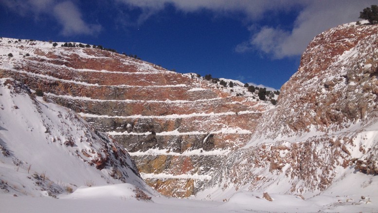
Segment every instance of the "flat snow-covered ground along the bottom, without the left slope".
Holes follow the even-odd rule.
[[[378,189],[378,183],[369,182],[366,175],[352,173],[324,193],[306,200],[295,195],[270,194],[273,201],[268,201],[262,197],[262,193],[239,192],[227,202],[159,196],[153,196],[149,201],[136,200],[134,186],[125,183],[79,187],[72,194],[61,194],[57,199],[43,193],[39,197],[0,194],[0,206],[4,213],[378,212],[378,191],[371,190]],[[360,194],[345,195],[356,188],[360,189]],[[361,196],[365,199],[362,200]]]

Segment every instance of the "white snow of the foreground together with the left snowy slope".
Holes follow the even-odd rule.
[[[262,192],[247,191],[213,194],[213,201],[204,194],[159,196],[131,171],[131,162],[118,168],[127,183],[113,178],[109,165],[90,165],[90,154],[103,152],[108,142],[71,110],[26,90],[13,79],[0,81],[0,213],[378,212],[377,176],[354,168],[305,199],[268,192],[268,201]],[[68,139],[74,145],[64,145]],[[146,200],[138,198],[139,189]]]

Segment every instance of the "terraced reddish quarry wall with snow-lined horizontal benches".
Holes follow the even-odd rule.
[[[0,77],[79,113],[122,144],[144,180],[164,195],[195,194],[274,108],[240,83],[224,88],[125,55],[57,44],[0,39]]]

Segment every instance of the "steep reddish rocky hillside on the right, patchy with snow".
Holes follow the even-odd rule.
[[[315,37],[278,106],[259,118],[250,142],[227,156],[199,196],[246,189],[308,197],[354,172],[376,179],[377,49],[378,25],[344,24]]]

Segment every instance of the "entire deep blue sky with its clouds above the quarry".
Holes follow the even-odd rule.
[[[376,0],[0,0],[0,36],[102,45],[279,89],[312,38]]]

